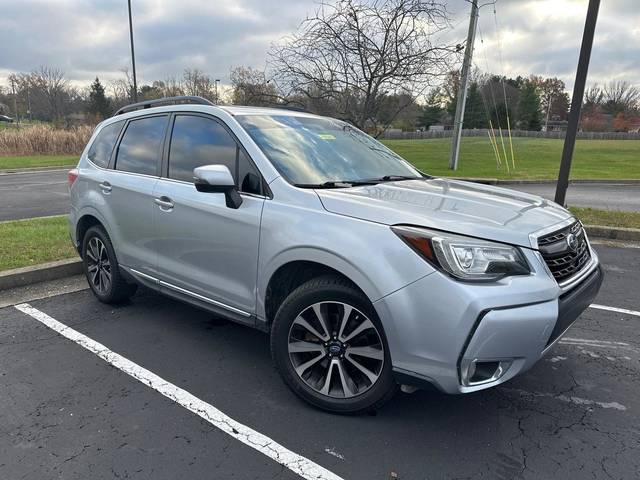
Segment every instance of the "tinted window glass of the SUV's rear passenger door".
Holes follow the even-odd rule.
[[[116,170],[156,175],[166,123],[166,116],[129,122],[118,147]]]

